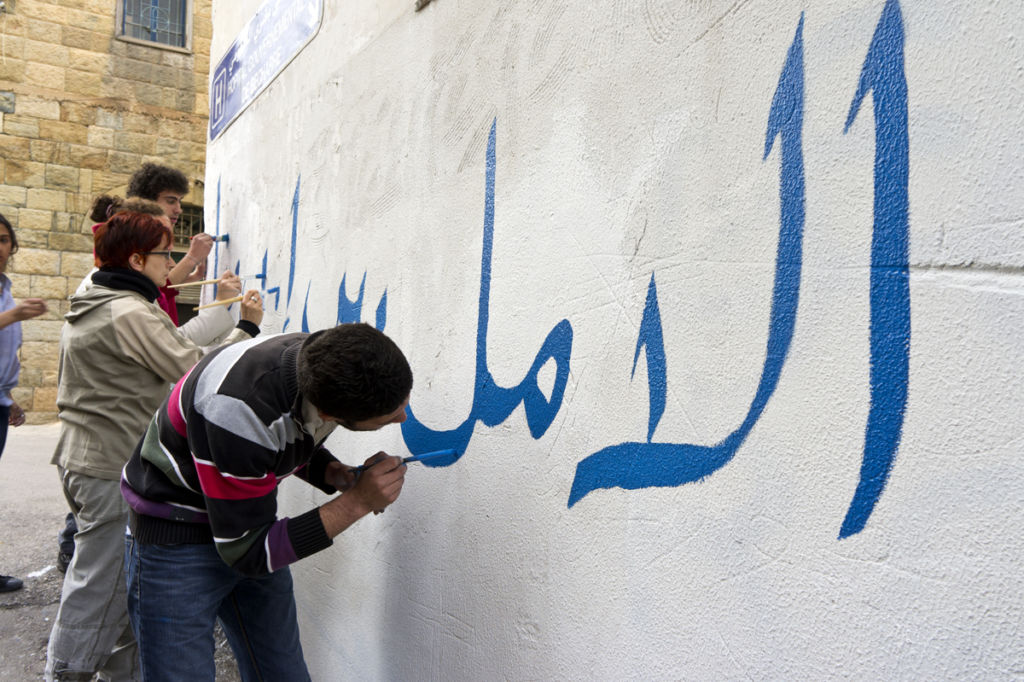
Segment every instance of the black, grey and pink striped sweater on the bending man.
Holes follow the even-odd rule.
[[[122,473],[136,542],[213,542],[250,576],[332,544],[316,508],[278,517],[278,484],[289,475],[337,492],[324,479],[335,458],[314,442],[298,391],[299,349],[309,336],[218,349],[178,381]]]

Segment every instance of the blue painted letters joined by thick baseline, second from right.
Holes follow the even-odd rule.
[[[647,442],[624,442],[610,445],[586,458],[577,465],[575,478],[569,492],[571,507],[587,494],[598,488],[667,487],[698,481],[715,473],[736,454],[751,429],[760,419],[768,399],[775,392],[797,323],[800,298],[800,275],[803,263],[804,238],[804,19],[800,18],[797,34],[786,55],[778,87],[768,114],[768,132],[764,158],[781,139],[781,170],[779,176],[778,249],[775,256],[775,285],[772,291],[770,329],[761,381],[742,424],[716,445],[651,442],[653,429],[665,409],[665,348],[662,337],[660,312],[654,280],[647,290],[644,319],[637,340],[637,357],[641,345],[647,348],[647,371],[650,385],[650,418]],[[634,367],[636,358],[634,358]],[[658,376],[658,373],[662,376]]]

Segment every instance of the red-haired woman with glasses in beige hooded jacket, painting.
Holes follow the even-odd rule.
[[[94,673],[103,679],[138,678],[125,596],[128,507],[121,497],[121,469],[169,385],[203,353],[155,304],[174,265],[171,238],[155,216],[130,211],[112,216],[94,233],[102,266],[92,275],[92,287],[72,296],[65,315],[60,436],[51,461],[78,532],[46,651],[47,680],[87,680]],[[239,290],[239,279],[225,275],[217,298]],[[246,293],[241,308],[225,344],[259,334],[263,309],[256,290]]]

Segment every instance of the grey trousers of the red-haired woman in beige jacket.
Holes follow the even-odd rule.
[[[138,649],[128,623],[124,546],[128,505],[120,481],[57,467],[78,519],[75,556],[46,647],[44,678],[111,682],[139,679]]]

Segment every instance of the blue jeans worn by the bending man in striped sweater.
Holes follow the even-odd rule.
[[[142,545],[128,538],[128,615],[145,682],[213,682],[220,619],[245,682],[309,681],[288,568],[250,578],[209,545]]]

